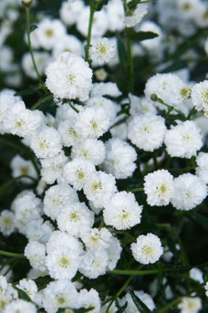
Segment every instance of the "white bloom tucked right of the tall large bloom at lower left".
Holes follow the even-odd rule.
[[[104,275],[107,271],[109,256],[104,249],[87,250],[78,268],[79,272],[90,279]]]

